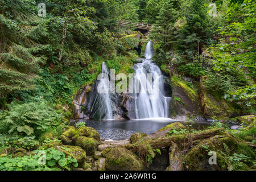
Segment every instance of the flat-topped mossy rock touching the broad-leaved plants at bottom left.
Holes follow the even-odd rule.
[[[86,152],[79,146],[56,146],[54,148],[63,152],[67,156],[72,156],[79,164],[82,164],[86,159]]]

